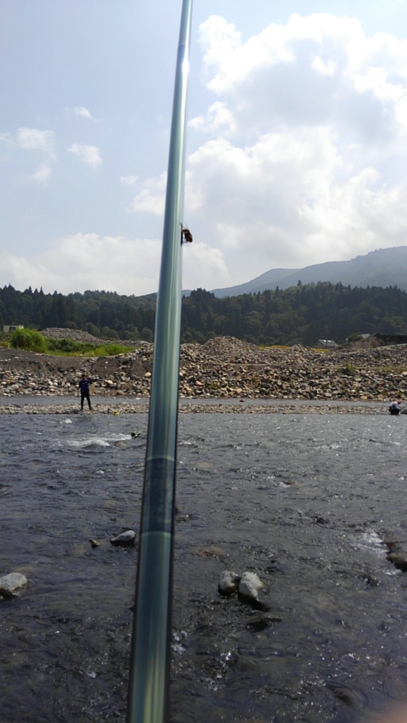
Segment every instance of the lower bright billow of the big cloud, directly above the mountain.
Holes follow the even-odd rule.
[[[189,158],[208,233],[234,278],[406,242],[406,184],[353,169],[337,142],[325,127],[280,129],[244,149],[209,141]]]

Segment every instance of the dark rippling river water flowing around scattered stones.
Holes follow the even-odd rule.
[[[179,422],[171,721],[360,721],[406,697],[407,419]],[[124,722],[147,419],[0,416],[1,723]],[[132,439],[131,432],[141,433]],[[97,539],[93,549],[89,539]],[[223,569],[256,572],[264,629]]]

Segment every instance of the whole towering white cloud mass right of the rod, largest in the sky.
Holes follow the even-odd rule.
[[[189,225],[234,279],[406,243],[406,41],[328,14],[246,43],[212,16],[200,39],[218,100],[189,124],[210,136],[187,161]]]

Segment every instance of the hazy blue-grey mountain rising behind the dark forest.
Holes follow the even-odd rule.
[[[407,246],[391,249],[377,249],[364,256],[356,256],[350,261],[328,261],[300,269],[271,269],[261,276],[229,288],[213,288],[218,298],[239,296],[239,294],[257,294],[267,288],[280,289],[302,284],[330,281],[343,283],[343,286],[398,286],[407,291]]]

